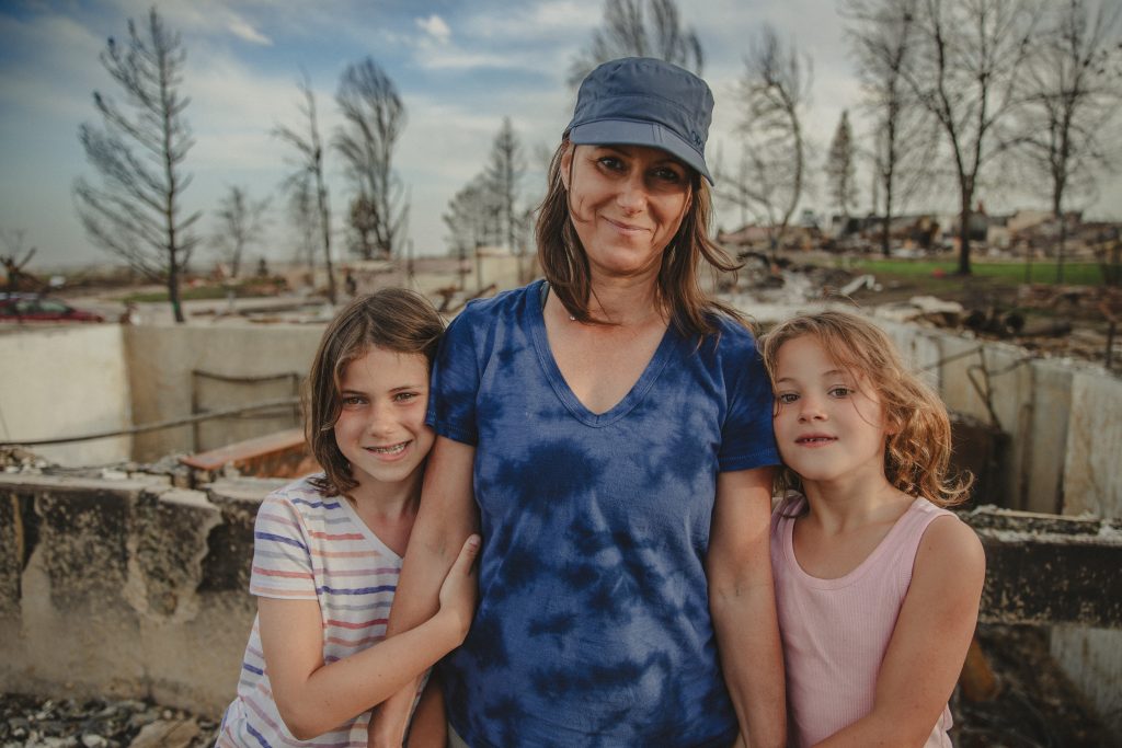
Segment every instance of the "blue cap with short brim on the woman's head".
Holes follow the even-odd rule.
[[[693,73],[652,57],[604,63],[585,79],[572,121],[574,145],[661,148],[697,169],[709,184],[705,141],[712,92]]]

